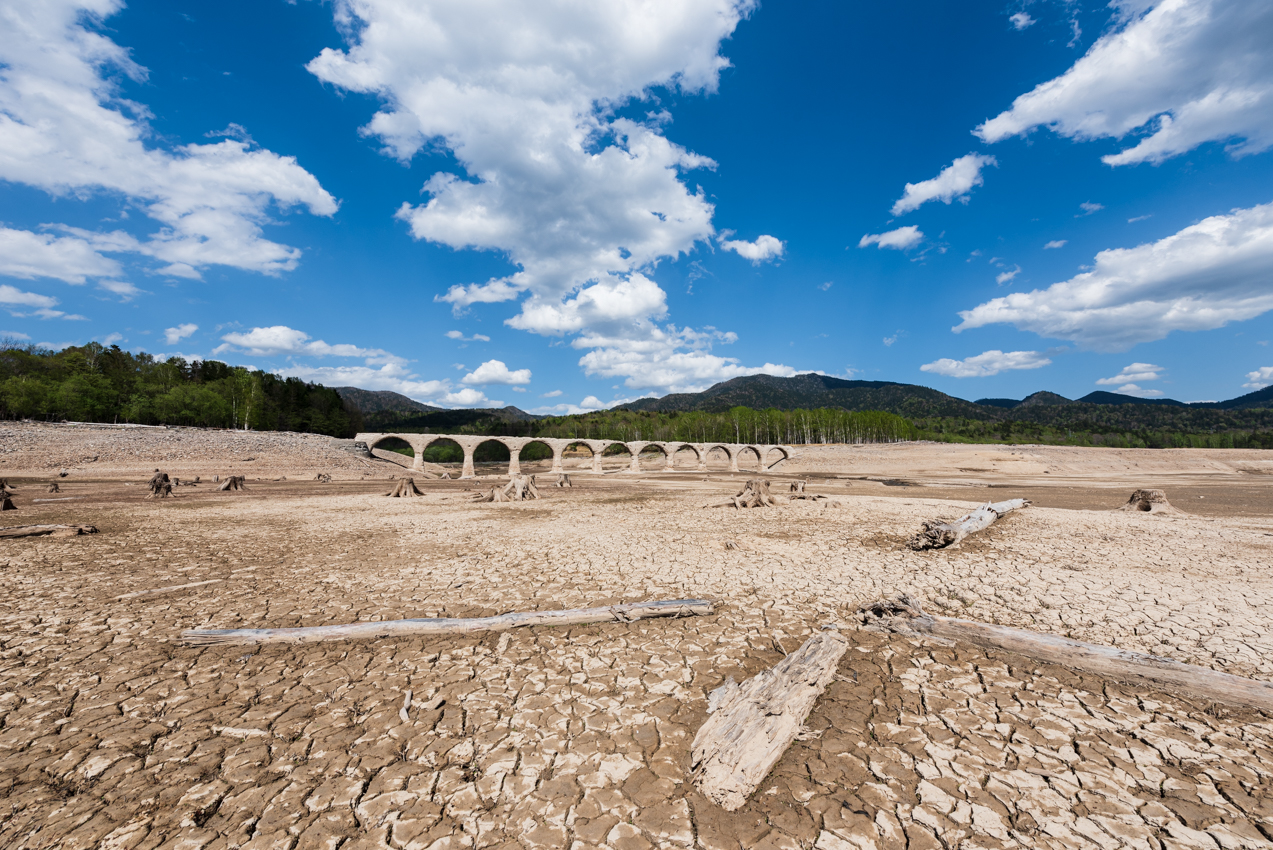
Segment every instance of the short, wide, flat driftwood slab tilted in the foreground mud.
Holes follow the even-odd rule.
[[[710,716],[690,746],[694,783],[708,799],[727,812],[747,802],[803,729],[848,648],[840,632],[821,631],[773,668],[712,691]]]

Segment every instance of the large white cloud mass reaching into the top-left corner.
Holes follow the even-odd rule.
[[[0,179],[53,196],[118,193],[160,228],[145,240],[48,240],[18,237],[20,276],[83,282],[115,275],[98,251],[130,251],[164,263],[168,275],[197,277],[227,265],[266,274],[294,268],[300,251],[264,238],[272,209],[336,211],[335,200],[295,159],[225,139],[164,148],[154,144],[146,108],[123,101],[115,79],[145,80],[125,47],[97,32],[121,0],[11,0],[0,38]],[[45,239],[41,249],[36,240]],[[89,243],[89,244],[85,244]],[[0,261],[3,262],[3,261]],[[25,262],[25,265],[23,265]]]

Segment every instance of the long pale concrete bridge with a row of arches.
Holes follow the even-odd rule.
[[[708,454],[719,449],[726,453],[729,458],[729,471],[740,472],[738,462],[743,461],[747,470],[756,470],[764,472],[765,470],[771,470],[783,461],[788,461],[796,456],[796,449],[789,445],[777,445],[768,443],[681,443],[681,442],[658,442],[658,440],[574,440],[564,438],[546,438],[546,436],[474,436],[471,434],[359,434],[354,438],[355,442],[365,443],[367,450],[370,452],[377,447],[378,443],[383,443],[387,439],[398,439],[407,443],[411,450],[415,452],[414,470],[424,468],[424,450],[429,448],[433,443],[438,440],[451,440],[458,445],[465,453],[465,466],[461,472],[461,478],[474,478],[474,452],[482,443],[499,443],[508,448],[508,473],[519,475],[522,471],[519,456],[522,449],[531,443],[542,443],[552,452],[552,472],[565,472],[565,467],[561,466],[561,458],[566,449],[574,445],[587,447],[592,452],[592,471],[601,472],[601,456],[605,454],[606,449],[611,445],[622,445],[628,449],[631,456],[631,462],[628,466],[628,472],[640,472],[640,453],[648,447],[654,447],[663,453],[665,472],[676,471],[673,467],[673,459],[677,452],[689,449],[698,458],[695,466],[696,471],[704,471],[708,468]],[[774,453],[778,453],[774,457]]]

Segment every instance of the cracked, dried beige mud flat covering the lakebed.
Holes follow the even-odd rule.
[[[973,452],[1017,462],[987,447],[806,449],[793,471],[816,472],[810,489],[834,506],[736,512],[700,505],[745,475],[580,473],[523,504],[420,481],[424,498],[384,499],[400,471],[348,453],[311,463],[304,445],[271,454],[265,435],[251,435],[252,463],[288,481],[146,501],[141,473],[225,475],[239,447],[201,436],[209,457],[178,470],[130,434],[136,454],[46,496],[36,458],[62,435],[37,429],[0,464],[19,490],[0,524],[99,528],[0,542],[0,846],[1273,847],[1269,716],[848,626],[858,603],[909,592],[934,612],[1273,679],[1273,478],[1242,471],[1259,453],[1146,470],[1157,456],[1030,449],[1059,477],[1040,484],[1039,470],[979,464]],[[297,480],[323,463],[334,484]],[[917,486],[872,480],[891,476]],[[983,490],[1106,506],[1164,478],[1169,495],[1207,496],[1211,515],[1179,499],[1190,513],[1040,499],[957,550],[904,547]],[[1246,495],[1226,509],[1223,492]],[[178,640],[679,597],[718,599],[718,613],[303,646]],[[852,648],[811,734],[723,812],[689,780],[707,693],[831,622]]]

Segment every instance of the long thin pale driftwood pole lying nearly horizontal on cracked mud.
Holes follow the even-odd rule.
[[[568,611],[526,611],[495,617],[386,620],[354,622],[344,626],[309,629],[192,629],[181,632],[187,644],[312,644],[322,640],[355,640],[397,635],[467,635],[475,631],[503,631],[518,626],[578,626],[589,622],[633,622],[648,617],[690,617],[715,611],[708,599],[668,599],[663,602],[625,602],[601,608]]]

